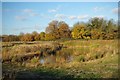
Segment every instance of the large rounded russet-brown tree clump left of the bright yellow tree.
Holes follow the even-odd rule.
[[[49,38],[48,38],[49,36]],[[46,28],[46,40],[54,40],[60,38],[70,38],[69,26],[61,21],[52,21],[49,23],[49,26]]]

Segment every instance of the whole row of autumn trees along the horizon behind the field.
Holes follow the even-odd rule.
[[[3,42],[40,41],[57,39],[117,39],[118,25],[113,19],[91,18],[88,22],[77,22],[69,27],[64,21],[51,21],[45,32],[20,33],[19,35],[2,35]]]

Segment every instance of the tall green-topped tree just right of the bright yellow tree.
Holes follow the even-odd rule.
[[[88,23],[92,39],[106,39],[106,32],[109,32],[107,20],[103,18],[92,18]]]

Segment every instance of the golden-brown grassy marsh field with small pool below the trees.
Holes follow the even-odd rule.
[[[118,78],[117,40],[3,42],[3,80]]]

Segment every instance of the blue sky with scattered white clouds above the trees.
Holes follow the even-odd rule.
[[[2,34],[42,32],[52,20],[70,27],[92,17],[118,18],[117,2],[3,2]]]

